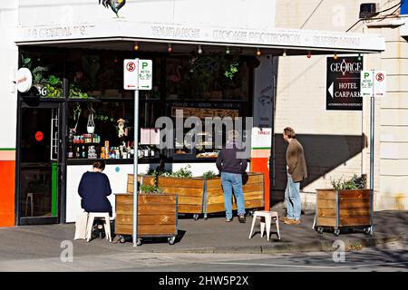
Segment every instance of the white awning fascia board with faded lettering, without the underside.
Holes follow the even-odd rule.
[[[384,38],[374,34],[346,34],[313,30],[248,30],[189,24],[151,24],[107,20],[72,25],[36,25],[18,28],[16,43],[104,38],[143,38],[146,41],[179,41],[185,43],[234,43],[242,46],[285,46],[298,49],[333,49],[335,51],[384,51]]]

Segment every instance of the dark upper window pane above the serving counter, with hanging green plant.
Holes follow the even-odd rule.
[[[167,100],[248,100],[245,57],[211,53],[166,59]]]

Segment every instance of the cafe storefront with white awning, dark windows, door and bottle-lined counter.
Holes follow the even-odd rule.
[[[129,5],[127,15],[136,7]],[[38,8],[19,9],[26,15]],[[47,9],[59,11],[52,5]],[[81,211],[79,180],[93,160],[105,160],[113,192],[126,192],[135,154],[141,173],[160,160],[172,170],[190,165],[194,176],[217,172],[219,149],[206,148],[209,144],[159,149],[156,121],[161,116],[175,120],[177,110],[203,122],[206,117],[253,118],[252,128],[245,128],[245,138],[251,138],[249,170],[266,175],[268,207],[274,57],[384,50],[376,35],[146,23],[112,15],[80,21],[75,17],[82,7],[70,5],[67,11],[73,17],[67,24],[31,19],[16,29],[18,67],[31,71],[33,87],[16,97],[15,225],[73,222]],[[137,129],[132,127],[133,94],[123,90],[122,79],[123,60],[136,57],[153,63],[152,90],[140,92]],[[111,202],[114,208],[113,196]]]

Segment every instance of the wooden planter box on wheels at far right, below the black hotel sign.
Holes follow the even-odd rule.
[[[373,195],[371,189],[316,189],[316,227],[334,227],[335,236],[340,227],[364,227],[364,233],[373,234]]]

